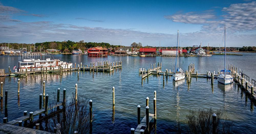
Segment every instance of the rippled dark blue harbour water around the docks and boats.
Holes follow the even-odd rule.
[[[227,65],[234,64],[243,70],[243,73],[255,79],[256,53],[243,53],[243,56],[228,56]],[[24,57],[1,56],[0,69],[8,69],[17,65]],[[34,57],[36,59],[41,57]],[[79,55],[54,55],[63,61],[90,64],[94,61],[119,61],[120,57],[88,57]],[[141,105],[141,117],[145,115],[145,98],[150,98],[150,113],[153,113],[154,90],[157,91],[157,129],[156,133],[174,133],[177,122],[182,125],[189,109],[212,108],[215,111],[222,109],[224,117],[234,121],[235,133],[254,133],[256,116],[255,104],[247,98],[244,91],[235,84],[227,85],[225,90],[217,80],[211,86],[206,78],[192,78],[189,85],[180,81],[174,83],[171,77],[151,75],[141,80],[138,68],[150,68],[151,63],[159,61],[159,57],[121,57],[122,69],[115,69],[113,73],[102,72],[64,72],[47,74],[41,78],[40,74],[28,77],[1,77],[4,90],[8,90],[8,119],[12,120],[28,112],[38,110],[38,95],[42,93],[42,81],[46,81],[46,93],[53,98],[57,88],[66,88],[67,94],[74,92],[78,84],[78,94],[83,94],[93,100],[96,112],[96,122],[93,133],[129,133],[130,128],[137,126],[137,105]],[[189,63],[195,63],[198,73],[216,71],[223,68],[223,56],[212,57],[181,57],[180,64],[183,70]],[[174,69],[175,57],[161,57],[162,70]],[[17,79],[21,79],[19,101],[17,98]],[[112,117],[112,87],[115,87],[115,114]],[[62,94],[62,93],[61,93]],[[0,122],[4,117],[1,109]],[[241,129],[242,128],[242,129]],[[154,133],[152,131],[152,133]]]

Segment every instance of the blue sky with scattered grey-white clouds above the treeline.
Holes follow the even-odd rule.
[[[256,46],[256,1],[0,0],[0,43]],[[222,46],[222,45],[221,45]]]

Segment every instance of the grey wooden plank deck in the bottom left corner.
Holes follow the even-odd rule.
[[[0,134],[6,134],[6,133],[8,134],[50,134],[50,132],[41,131],[37,129],[0,123]]]

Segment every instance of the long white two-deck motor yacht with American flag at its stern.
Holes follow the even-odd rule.
[[[39,71],[41,70],[41,67],[47,69],[59,69],[59,65],[63,67],[63,69],[69,69],[72,68],[72,63],[67,63],[60,61],[59,59],[53,59],[46,58],[46,60],[40,60],[40,59],[23,59],[23,61],[18,62],[18,72],[26,71]]]

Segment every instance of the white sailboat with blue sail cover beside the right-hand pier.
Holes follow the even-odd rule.
[[[220,75],[218,76],[218,82],[221,84],[231,84],[234,81],[234,78],[231,76],[231,72],[226,70],[226,27],[224,27],[224,46],[225,46],[225,58],[224,58],[224,70],[220,71]]]

